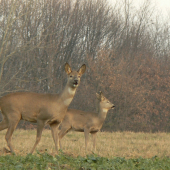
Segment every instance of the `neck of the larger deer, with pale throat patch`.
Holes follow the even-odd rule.
[[[75,95],[76,88],[71,88],[69,85],[66,85],[63,92],[61,93],[61,101],[63,102],[65,107],[68,107],[73,100]]]

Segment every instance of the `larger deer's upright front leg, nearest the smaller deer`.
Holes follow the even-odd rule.
[[[55,143],[55,150],[56,152],[58,152],[59,149],[59,137],[58,137],[58,127],[59,127],[60,123],[52,123],[50,124],[51,127],[51,133],[52,133],[52,137]]]

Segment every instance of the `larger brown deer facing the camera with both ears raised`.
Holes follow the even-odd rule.
[[[16,92],[10,93],[0,99],[0,109],[3,115],[3,120],[0,122],[0,130],[8,129],[5,139],[11,152],[14,153],[11,137],[21,119],[37,123],[36,142],[30,152],[31,154],[40,141],[45,124],[49,124],[51,127],[55,149],[58,151],[58,127],[66,114],[67,108],[80,83],[80,77],[85,70],[85,64],[78,71],[72,71],[69,64],[66,63],[67,84],[59,94]]]

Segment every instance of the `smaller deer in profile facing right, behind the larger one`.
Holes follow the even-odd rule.
[[[91,133],[93,137],[93,149],[96,150],[96,134],[101,129],[108,110],[115,107],[114,104],[103,96],[102,92],[100,92],[100,94],[96,93],[96,96],[99,100],[98,113],[84,112],[75,109],[67,110],[59,132],[60,148],[61,139],[64,135],[66,135],[70,130],[74,130],[84,132],[86,151],[89,142],[89,133]]]

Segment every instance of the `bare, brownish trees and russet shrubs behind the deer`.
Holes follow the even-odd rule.
[[[0,93],[60,92],[64,64],[87,65],[72,108],[116,106],[103,130],[170,131],[170,30],[146,0],[1,0]],[[23,123],[22,125],[25,125]]]

